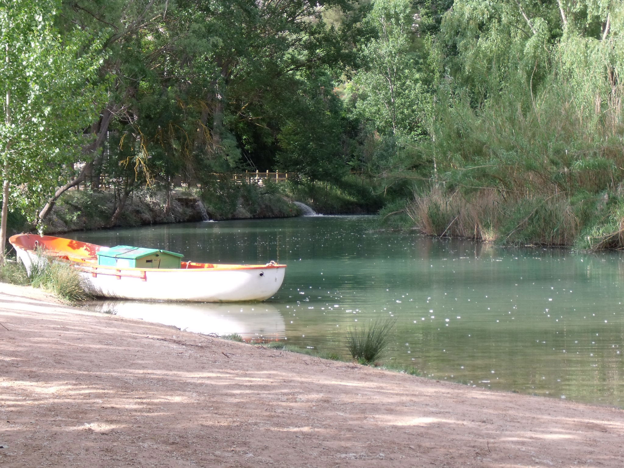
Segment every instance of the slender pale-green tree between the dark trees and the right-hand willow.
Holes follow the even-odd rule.
[[[426,47],[414,30],[410,0],[376,0],[364,22],[375,38],[361,47],[353,79],[353,117],[362,122],[362,167],[373,173],[411,167],[409,149],[426,133],[431,100],[423,67]]]

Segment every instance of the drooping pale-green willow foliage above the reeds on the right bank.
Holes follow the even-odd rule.
[[[456,1],[436,37],[430,130],[444,169],[459,168],[462,185],[519,193],[619,181],[623,27],[622,2]]]

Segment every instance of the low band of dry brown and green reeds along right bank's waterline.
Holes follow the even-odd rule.
[[[512,245],[579,246],[583,232],[604,223],[615,200],[606,193],[580,192],[511,196],[497,190],[465,195],[433,187],[421,192],[405,212],[419,232],[438,237],[463,237]],[[616,217],[617,218],[617,217]],[[618,220],[624,218],[617,218]],[[619,222],[619,221],[618,221]],[[593,233],[593,245],[620,243],[618,223],[607,233]]]

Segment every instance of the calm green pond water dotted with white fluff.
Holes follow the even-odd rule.
[[[396,318],[386,360],[425,376],[624,406],[622,255],[512,249],[378,232],[371,217],[185,223],[73,233],[196,261],[287,263],[260,304],[105,303],[202,333],[241,333],[346,356],[344,333]]]

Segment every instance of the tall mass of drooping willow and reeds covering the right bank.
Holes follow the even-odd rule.
[[[458,0],[444,17],[414,160],[429,184],[404,212],[429,235],[624,248],[624,6],[566,20],[519,5]]]

